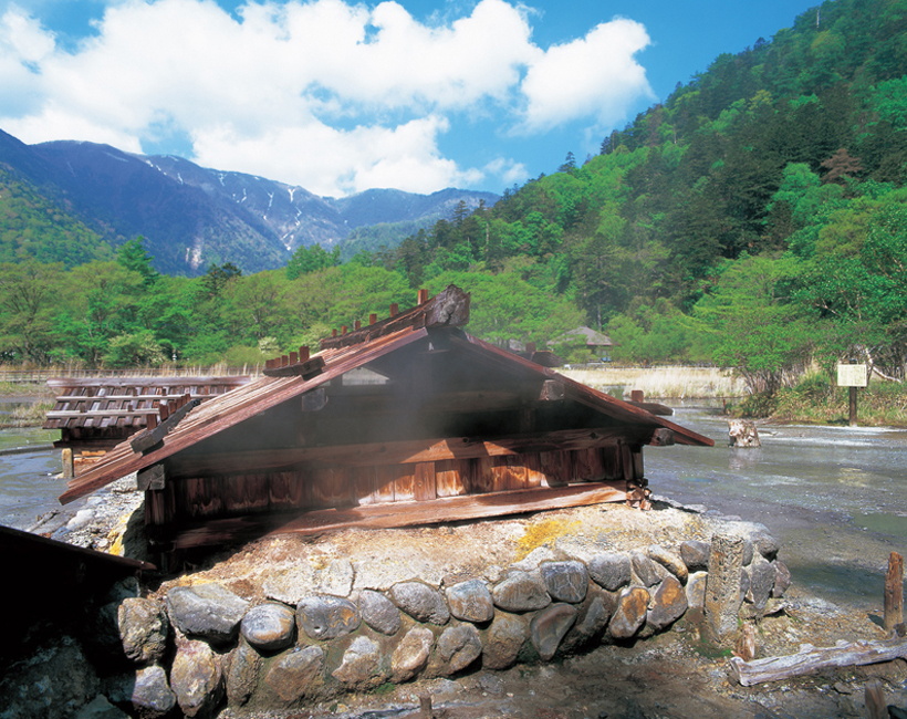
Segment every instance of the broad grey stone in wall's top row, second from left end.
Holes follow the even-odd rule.
[[[220,584],[177,586],[167,592],[170,623],[187,636],[216,643],[236,639],[248,608],[246,600]]]

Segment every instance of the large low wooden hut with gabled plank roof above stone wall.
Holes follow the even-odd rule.
[[[289,353],[121,444],[63,503],[132,471],[161,550],[269,531],[646,503],[646,445],[713,442],[462,331],[451,285]],[[178,424],[176,424],[178,421]]]

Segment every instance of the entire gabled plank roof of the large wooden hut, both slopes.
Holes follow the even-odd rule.
[[[445,293],[450,290],[451,288],[448,288]],[[457,288],[452,288],[452,290],[465,295]],[[448,309],[452,306],[451,303],[445,305],[444,302],[437,301],[439,298],[445,300],[445,293],[417,305],[406,313],[359,330],[354,333],[356,336],[347,335],[323,341],[321,352],[311,358],[303,361],[296,356],[296,365],[284,364],[269,371],[268,375],[260,379],[205,402],[191,409],[163,438],[159,445],[145,454],[134,451],[129,442],[118,445],[91,470],[70,481],[67,490],[60,497],[61,503],[71,502],[119,477],[146,469],[174,457],[205,439],[294,397],[310,393],[354,369],[369,367],[371,365],[372,368],[377,368],[380,372],[386,363],[393,359],[392,355],[394,353],[423,341],[449,343],[449,347],[445,348],[460,353],[462,362],[475,366],[477,372],[481,372],[482,367],[493,367],[502,368],[509,375],[517,377],[541,381],[556,379],[564,386],[567,398],[588,406],[619,423],[651,430],[657,428],[670,429],[675,433],[675,440],[678,444],[713,445],[712,440],[707,437],[574,382],[551,368],[499,350],[460,330],[451,332],[442,332],[441,330],[445,336],[439,338],[437,333],[440,329],[451,329],[460,322],[459,315],[456,315],[452,311],[447,314],[437,312],[439,304]],[[468,303],[468,295],[465,296]],[[300,374],[292,372],[294,366],[300,368]],[[315,367],[314,371],[313,367]],[[400,371],[405,372],[406,369],[400,368]],[[444,440],[444,438],[439,439]],[[427,449],[434,442],[426,440],[424,444]]]

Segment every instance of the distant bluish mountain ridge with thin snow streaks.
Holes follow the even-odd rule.
[[[0,131],[0,165],[62,211],[118,244],[144,236],[155,267],[197,275],[215,263],[244,272],[285,264],[300,246],[331,247],[363,226],[449,217],[491,192],[445,189],[416,195],[366,190],[334,199],[263,177],[208,169],[174,156],[58,140],[25,145]]]

